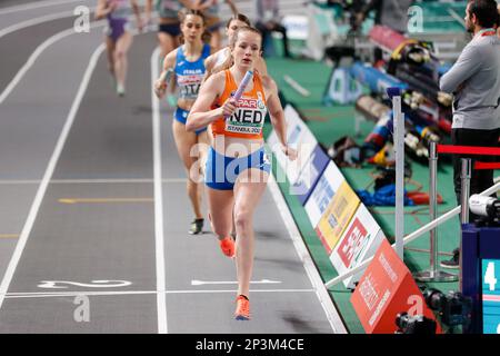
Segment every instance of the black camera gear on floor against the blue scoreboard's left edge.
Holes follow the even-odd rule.
[[[472,299],[459,291],[448,294],[433,288],[423,291],[423,298],[432,310],[437,312],[442,324],[450,328],[462,326],[467,328],[471,323]]]

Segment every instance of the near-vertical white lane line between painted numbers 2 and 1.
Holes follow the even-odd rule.
[[[151,106],[153,129],[153,174],[154,174],[154,240],[157,261],[157,290],[166,290],[166,265],[163,241],[163,190],[161,185],[161,127],[160,101],[154,95],[153,83],[157,80],[160,48],[157,47],[151,55]],[[158,334],[168,333],[167,297],[164,293],[157,295]]]

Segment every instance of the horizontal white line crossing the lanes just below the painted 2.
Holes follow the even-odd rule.
[[[180,289],[180,290],[122,290],[122,291],[54,291],[54,293],[9,293],[8,299],[16,298],[53,298],[73,296],[133,296],[160,294],[224,294],[238,293],[238,289]],[[250,293],[316,293],[314,289],[250,289]]]

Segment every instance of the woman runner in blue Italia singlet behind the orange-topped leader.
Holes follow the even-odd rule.
[[[194,220],[191,222],[190,234],[200,234],[203,228],[203,215],[201,212],[202,185],[198,167],[203,167],[206,149],[208,147],[207,130],[188,132],[186,120],[189,110],[193,106],[201,82],[204,77],[204,60],[211,55],[210,46],[204,43],[202,34],[204,32],[204,18],[201,12],[186,10],[181,16],[181,32],[184,43],[174,49],[163,60],[163,71],[154,83],[154,91],[162,98],[170,83],[170,76],[174,76],[179,87],[179,98],[177,110],[173,115],[172,131],[177,150],[188,171],[188,196],[194,212]],[[201,144],[201,145],[198,145]],[[198,145],[200,152],[198,157],[192,157],[192,148]]]

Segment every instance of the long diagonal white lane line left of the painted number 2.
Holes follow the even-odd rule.
[[[24,226],[22,228],[21,235],[19,236],[18,244],[16,246],[14,253],[10,259],[9,266],[7,267],[7,271],[3,276],[2,283],[0,285],[0,308],[3,304],[3,298],[7,294],[7,290],[9,289],[9,285],[12,280],[13,274],[16,271],[16,268],[19,264],[19,260],[21,259],[22,251],[24,250],[24,247],[28,243],[28,238],[30,236],[31,229],[33,228],[34,220],[37,218],[38,211],[40,209],[40,206],[42,204],[43,197],[46,195],[47,188],[49,186],[50,179],[52,178],[53,171],[56,169],[56,165],[59,160],[59,157],[61,155],[62,148],[64,147],[66,140],[68,138],[69,131],[71,129],[71,126],[74,121],[74,117],[77,116],[77,111],[80,107],[81,100],[83,98],[83,95],[86,93],[87,87],[90,81],[90,77],[96,68],[97,61],[99,59],[99,56],[104,50],[104,44],[100,44],[96,51],[92,53],[92,57],[90,58],[89,65],[87,67],[87,70],[83,75],[82,81],[80,83],[80,87],[78,89],[77,96],[73,100],[73,103],[71,105],[71,109],[68,113],[68,118],[66,120],[64,127],[62,128],[61,135],[59,136],[58,142],[56,145],[56,148],[52,152],[52,156],[49,160],[49,165],[47,166],[47,170],[43,175],[42,181],[38,188],[37,195],[34,197],[33,204],[31,205],[30,212],[28,215],[28,218],[24,222]]]

